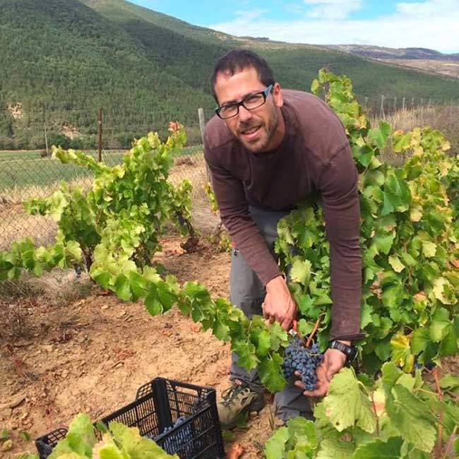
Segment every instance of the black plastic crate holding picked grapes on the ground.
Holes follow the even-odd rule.
[[[185,421],[167,433],[179,417]],[[138,388],[136,400],[100,419],[138,427],[167,453],[181,459],[224,459],[222,431],[218,421],[215,389],[155,378]],[[56,429],[35,440],[40,459],[51,454],[67,429]]]

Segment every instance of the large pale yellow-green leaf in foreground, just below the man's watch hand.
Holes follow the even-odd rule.
[[[338,431],[357,426],[371,434],[376,429],[371,401],[362,393],[352,369],[343,368],[333,376],[323,404],[328,419]]]

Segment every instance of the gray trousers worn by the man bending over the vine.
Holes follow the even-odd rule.
[[[258,231],[271,254],[274,254],[274,241],[277,237],[278,221],[288,214],[288,212],[272,212],[258,208],[250,208],[251,217],[254,220]],[[266,295],[266,290],[258,276],[247,265],[244,257],[239,250],[232,249],[231,253],[231,273],[229,275],[229,299],[239,309],[244,311],[247,317],[251,318],[254,314],[263,314],[261,304]],[[239,379],[245,383],[252,391],[262,393],[263,386],[256,369],[246,371],[237,365],[237,355],[232,353],[232,364],[229,369],[230,379]],[[304,416],[309,419],[312,417],[311,405],[301,389],[294,386],[294,376],[287,381],[287,386],[282,392],[274,396],[275,416],[282,420],[291,417]]]

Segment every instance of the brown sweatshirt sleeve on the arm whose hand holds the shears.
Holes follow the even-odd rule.
[[[222,222],[246,263],[255,271],[263,285],[266,285],[280,275],[280,270],[250,216],[244,185],[224,167],[213,162],[206,142],[204,155],[212,176],[213,191]]]

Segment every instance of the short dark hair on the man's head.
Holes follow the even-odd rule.
[[[218,59],[217,64],[213,69],[212,74],[212,95],[215,101],[218,103],[217,95],[215,94],[215,83],[217,82],[218,73],[229,73],[233,76],[234,73],[238,73],[244,68],[255,68],[256,73],[258,73],[258,78],[260,78],[261,83],[265,86],[273,85],[275,79],[273,76],[273,71],[268,66],[263,57],[258,56],[258,54],[250,51],[249,49],[233,49],[230,52],[227,52],[225,56]]]

